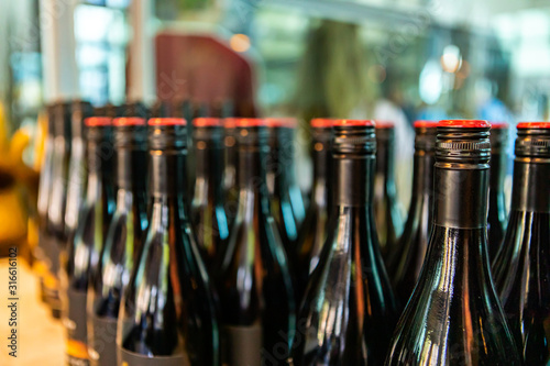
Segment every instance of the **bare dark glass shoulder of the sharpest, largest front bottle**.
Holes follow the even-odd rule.
[[[435,226],[426,264],[405,309],[387,365],[520,365],[491,284],[483,229]],[[433,354],[437,359],[424,359]],[[474,362],[475,361],[475,362]]]

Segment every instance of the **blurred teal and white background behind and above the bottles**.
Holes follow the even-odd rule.
[[[0,24],[0,247],[34,240],[21,202],[59,99],[391,120],[405,208],[414,120],[549,114],[543,0],[18,0]]]

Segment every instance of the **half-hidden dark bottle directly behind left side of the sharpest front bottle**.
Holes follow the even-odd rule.
[[[392,286],[403,309],[415,289],[422,269],[433,223],[433,163],[437,122],[415,122],[415,162],[413,195],[405,230],[389,257]]]

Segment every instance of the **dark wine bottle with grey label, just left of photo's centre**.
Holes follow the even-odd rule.
[[[271,215],[265,121],[237,121],[239,209],[217,275],[229,366],[286,365],[296,324],[290,271]]]

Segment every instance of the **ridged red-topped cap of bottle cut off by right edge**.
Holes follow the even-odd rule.
[[[519,123],[515,151],[520,157],[550,157],[550,122]]]

